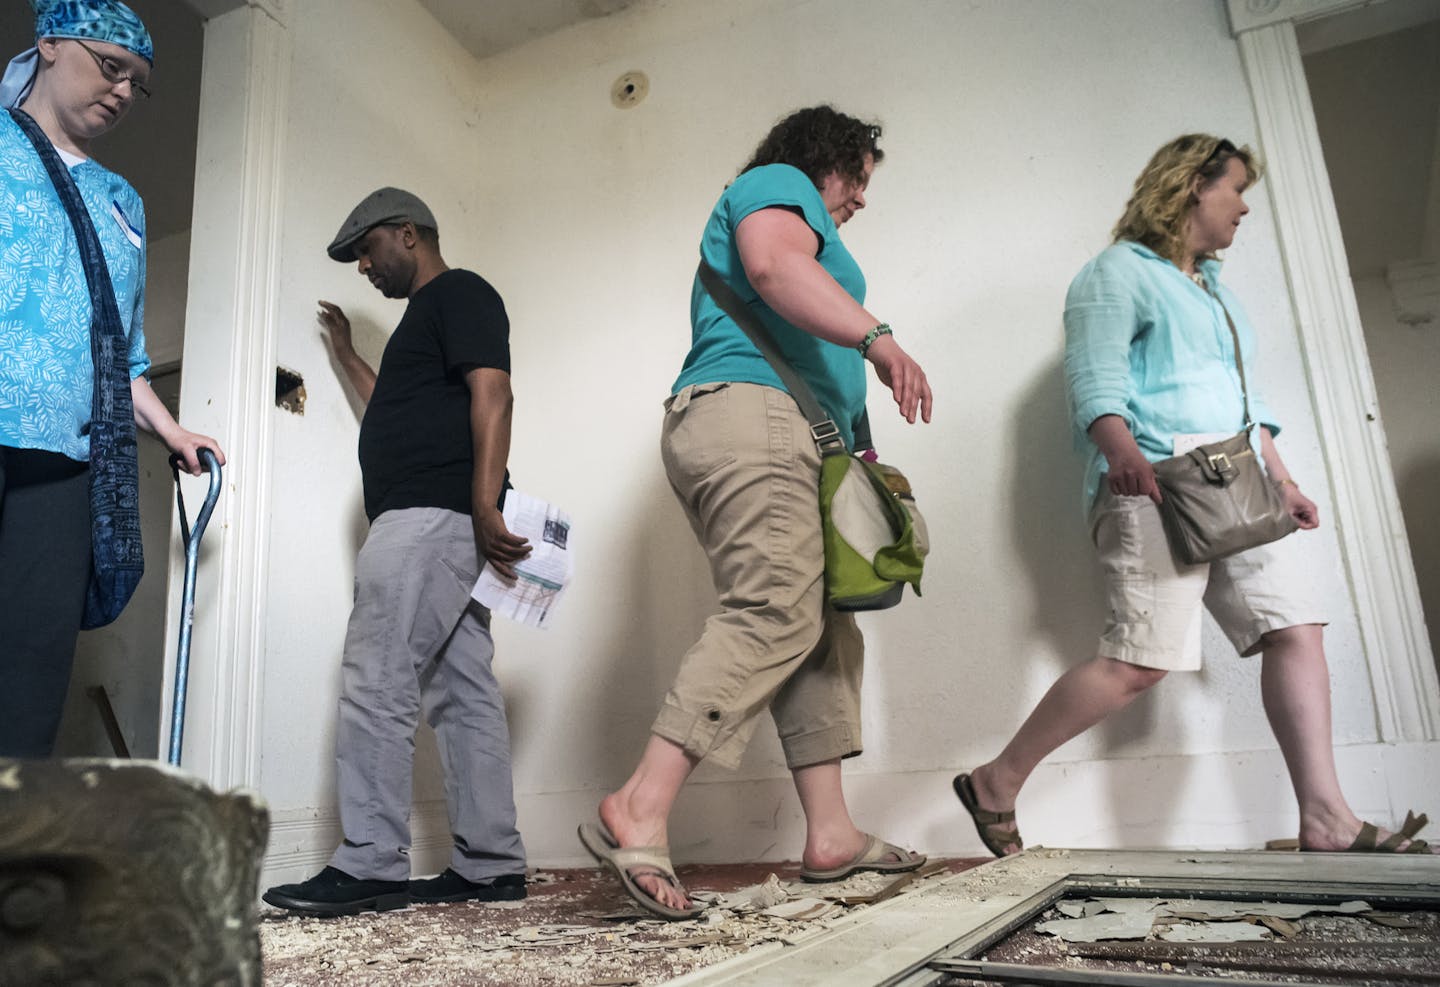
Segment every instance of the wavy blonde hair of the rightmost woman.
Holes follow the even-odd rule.
[[[1143,244],[1176,267],[1185,258],[1185,222],[1195,206],[1195,179],[1210,184],[1238,157],[1246,166],[1247,186],[1260,180],[1263,166],[1256,153],[1236,147],[1211,134],[1182,134],[1151,157],[1135,192],[1125,205],[1125,215],[1115,225],[1115,242]],[[1212,259],[1210,255],[1197,261]]]

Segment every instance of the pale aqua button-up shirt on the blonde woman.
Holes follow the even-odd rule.
[[[1257,386],[1254,329],[1220,284],[1220,262],[1198,269],[1236,323],[1250,416],[1277,435]],[[1175,454],[1176,435],[1243,428],[1234,350],[1220,303],[1148,246],[1115,244],[1080,269],[1066,294],[1066,388],[1076,445],[1087,454],[1086,509],[1107,465],[1087,431],[1096,418],[1120,415],[1151,463]],[[1259,429],[1251,442],[1259,452]]]

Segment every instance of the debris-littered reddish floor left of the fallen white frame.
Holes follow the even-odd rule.
[[[984,860],[932,862],[923,876],[900,886],[894,886],[894,877],[880,875],[842,885],[798,886],[795,863],[680,867],[691,890],[720,893],[760,885],[775,875],[792,892],[779,911],[799,911],[795,918],[742,906],[717,908],[690,922],[649,921],[629,905],[613,879],[595,869],[536,875],[523,902],[416,905],[338,919],[264,908],[265,987],[658,984],[765,942],[815,935],[835,916],[863,908],[864,899],[906,893],[979,863]],[[827,901],[796,905],[801,895],[824,895]]]

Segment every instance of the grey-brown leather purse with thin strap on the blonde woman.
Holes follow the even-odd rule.
[[[1246,388],[1244,362],[1240,359],[1240,333],[1220,295],[1208,285],[1205,291],[1220,305],[1225,324],[1230,326],[1246,425],[1230,438],[1198,445],[1182,455],[1153,464],[1162,497],[1159,509],[1165,536],[1171,550],[1189,565],[1214,562],[1276,542],[1299,527],[1250,445],[1250,432],[1256,424],[1250,419],[1250,392]]]

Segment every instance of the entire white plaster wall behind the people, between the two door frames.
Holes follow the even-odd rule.
[[[341,16],[343,13],[343,16]],[[276,412],[264,654],[269,876],[312,870],[336,839],[333,723],[353,556],[364,533],[356,409],[314,326],[333,300],[377,357],[402,307],[324,244],[380,184],[422,195],[451,264],[505,297],[517,486],[566,506],[579,572],[559,625],[497,621],[516,781],[533,862],[579,860],[573,827],[619,784],[675,663],[714,608],[658,457],[661,401],[688,344],[697,238],[714,199],[788,110],[831,101],[884,124],[888,158],[845,236],[868,307],[924,365],[936,421],[904,426],[878,385],[883,455],[932,522],[926,595],[863,618],[865,755],[847,764],[861,824],[976,852],[949,775],[989,756],[1050,682],[1093,653],[1096,571],[1060,376],[1068,280],[1107,239],[1151,151],[1178,133],[1254,138],[1220,3],[670,0],[482,63],[415,0],[317,0],[289,13],[278,360],[304,418]],[[651,78],[628,111],[609,88]],[[1205,79],[1197,98],[1197,79]],[[1292,471],[1326,503],[1319,438],[1269,203],[1227,278],[1261,329],[1260,375]],[[1355,615],[1331,529],[1300,535],[1332,617],[1335,736],[1375,739]],[[1295,807],[1259,700],[1259,666],[1205,637],[1207,670],[1066,746],[1021,801],[1047,844],[1254,844]],[[422,745],[418,860],[439,866],[439,784]],[[1395,785],[1345,759],[1358,808]],[[1401,794],[1423,769],[1410,771]],[[798,810],[768,726],[737,772],[701,767],[677,854],[782,859]]]

